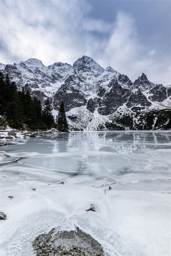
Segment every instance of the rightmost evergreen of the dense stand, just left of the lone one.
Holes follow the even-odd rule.
[[[54,127],[54,117],[52,115],[51,103],[49,97],[45,100],[45,106],[43,109],[43,122],[48,128]]]

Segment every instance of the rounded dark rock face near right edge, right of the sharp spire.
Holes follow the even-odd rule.
[[[167,99],[167,88],[162,86],[162,84],[157,84],[150,91],[150,94],[153,94],[149,97],[152,101],[162,102]]]

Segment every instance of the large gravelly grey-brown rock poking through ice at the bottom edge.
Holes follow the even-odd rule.
[[[37,256],[39,255],[104,255],[101,245],[76,227],[76,231],[54,233],[54,228],[48,234],[40,234],[32,242]]]

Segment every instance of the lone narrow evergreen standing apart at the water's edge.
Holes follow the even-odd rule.
[[[60,109],[59,109],[59,112],[58,112],[57,129],[58,129],[58,131],[61,131],[61,132],[68,132],[69,131],[63,101],[61,103],[61,106],[60,106]]]

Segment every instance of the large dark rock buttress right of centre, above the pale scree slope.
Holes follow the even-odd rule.
[[[98,105],[98,112],[102,115],[109,115],[122,105],[130,95],[128,90],[120,86],[118,81],[113,79],[109,84],[109,89],[101,97]]]

